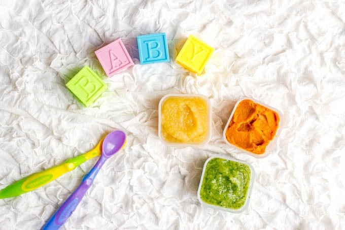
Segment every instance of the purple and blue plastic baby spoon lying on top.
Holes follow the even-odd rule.
[[[58,229],[70,217],[83,199],[87,189],[92,185],[100,168],[106,160],[117,153],[126,144],[126,134],[122,130],[115,130],[107,135],[102,144],[102,154],[96,165],[90,170],[82,180],[79,187],[70,195],[70,197],[54,213],[42,229]]]

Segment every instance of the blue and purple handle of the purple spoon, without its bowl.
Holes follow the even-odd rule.
[[[74,210],[83,199],[87,189],[92,185],[94,178],[102,167],[107,158],[102,155],[98,159],[96,165],[90,170],[88,174],[82,180],[79,187],[67,198],[67,200],[61,205],[61,207],[54,213],[54,215],[43,226],[45,229],[58,229],[62,224],[72,215]]]

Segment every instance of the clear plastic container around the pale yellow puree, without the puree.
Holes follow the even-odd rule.
[[[161,110],[162,110],[162,103],[169,97],[197,97],[197,98],[201,98],[202,100],[204,100],[206,102],[206,105],[208,107],[208,111],[207,111],[207,116],[208,116],[208,123],[207,123],[207,134],[206,134],[206,138],[199,143],[178,143],[178,142],[168,142],[166,141],[163,136],[162,136],[162,114],[161,114]],[[200,95],[200,94],[167,94],[165,96],[163,96],[159,102],[159,106],[158,106],[158,136],[159,139],[167,146],[176,146],[176,147],[187,147],[187,146],[201,146],[201,145],[205,145],[207,144],[210,139],[211,139],[211,133],[212,133],[212,115],[211,115],[211,103],[209,98],[205,97],[204,95]]]

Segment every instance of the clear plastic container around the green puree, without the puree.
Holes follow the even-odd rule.
[[[246,202],[245,202],[245,204],[244,204],[242,207],[240,207],[239,209],[224,208],[224,207],[220,207],[220,206],[217,206],[217,205],[208,204],[208,203],[202,201],[202,199],[201,199],[201,197],[200,197],[200,190],[201,190],[201,185],[202,185],[203,176],[204,176],[204,174],[205,174],[206,165],[207,165],[208,162],[209,162],[211,159],[213,159],[213,158],[221,158],[221,159],[226,159],[226,160],[231,160],[231,161],[243,163],[243,164],[247,165],[247,166],[250,168],[250,170],[251,170],[251,177],[250,177],[250,181],[249,181],[249,187],[248,187]],[[230,157],[221,156],[221,155],[214,155],[214,156],[211,156],[210,158],[208,158],[208,159],[205,161],[205,163],[204,163],[204,165],[203,165],[203,170],[202,170],[202,174],[201,174],[201,178],[200,178],[200,183],[199,183],[199,188],[198,188],[198,193],[197,193],[198,200],[199,200],[199,202],[201,203],[201,205],[204,206],[204,207],[214,208],[214,209],[218,209],[218,210],[222,210],[222,211],[227,211],[227,212],[232,212],[232,213],[240,213],[240,212],[243,212],[243,211],[245,211],[245,210],[248,208],[249,201],[250,201],[251,194],[252,194],[252,190],[253,190],[253,186],[254,186],[254,181],[255,181],[255,170],[254,170],[254,168],[250,165],[250,163],[247,163],[247,162],[244,162],[244,161],[241,161],[241,160],[237,160],[237,159],[233,159],[233,158],[230,158]]]

